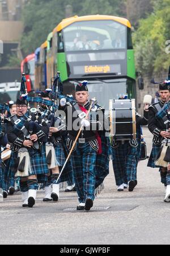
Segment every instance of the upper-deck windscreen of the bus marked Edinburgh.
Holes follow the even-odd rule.
[[[67,52],[89,49],[125,49],[127,47],[126,33],[127,27],[114,20],[75,22],[63,29]]]

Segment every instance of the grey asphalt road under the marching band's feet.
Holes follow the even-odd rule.
[[[147,153],[152,135],[146,135]],[[22,208],[19,192],[0,202],[0,244],[131,245],[169,244],[170,204],[164,203],[164,186],[158,169],[138,166],[138,185],[133,192],[117,192],[113,168],[105,189],[90,212],[76,211],[76,192],[61,191],[58,203],[44,203],[37,193],[35,207]]]

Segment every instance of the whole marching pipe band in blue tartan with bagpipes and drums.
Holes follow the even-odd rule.
[[[32,208],[37,189],[45,189],[43,201],[57,202],[59,188],[67,183],[66,191],[76,190],[78,194],[76,209],[88,211],[97,193],[104,188],[110,155],[117,191],[128,188],[132,192],[137,185],[138,162],[147,158],[146,143],[141,143],[141,126],[148,124],[154,135],[148,166],[160,168],[162,182],[167,187],[164,201],[170,201],[170,75],[159,83],[159,102],[151,104],[152,97],[145,96],[143,117],[135,112],[135,100],[127,97],[110,100],[109,125],[105,125],[108,124],[105,110],[96,101],[90,104],[87,84],[83,81],[76,86],[75,99],[63,96],[57,72],[52,89],[30,98],[27,97],[23,74],[16,113],[12,115],[7,105],[0,105],[1,115],[6,113],[0,130],[2,155],[5,134],[6,144],[10,144],[10,154],[1,155],[0,187],[3,197],[14,193],[14,182],[19,179],[22,206]],[[37,108],[31,109],[31,102],[36,102]],[[61,113],[65,115],[65,123],[59,117]],[[67,123],[70,113],[71,129]],[[78,121],[76,127],[75,120]],[[167,138],[166,143],[163,138]],[[143,146],[145,156],[141,156]]]

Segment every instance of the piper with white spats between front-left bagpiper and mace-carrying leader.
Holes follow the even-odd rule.
[[[41,92],[41,98],[50,101],[50,91],[46,90]],[[46,156],[49,167],[48,182],[45,185],[45,198],[43,201],[58,201],[59,199],[59,182],[57,179],[59,176],[59,167],[62,167],[65,163],[65,154],[62,147],[61,135],[58,129],[54,126],[54,114],[53,107],[49,109],[45,104],[41,104],[41,117],[49,127],[49,137],[46,143]],[[49,148],[49,149],[48,149]],[[54,154],[53,154],[54,153]]]

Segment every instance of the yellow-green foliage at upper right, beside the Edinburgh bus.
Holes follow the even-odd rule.
[[[166,42],[169,36],[170,0],[157,0],[154,12],[139,22],[134,33],[137,67],[146,75],[167,71],[170,53],[167,54]]]

